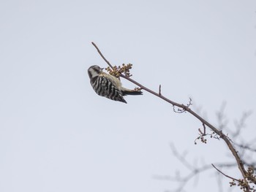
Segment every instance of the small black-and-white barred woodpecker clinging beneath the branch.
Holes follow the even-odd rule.
[[[90,66],[88,74],[91,86],[99,96],[105,96],[114,101],[121,101],[127,104],[124,96],[127,95],[142,95],[143,92],[130,90],[122,87],[121,81],[113,75],[103,72],[104,68],[97,65]]]

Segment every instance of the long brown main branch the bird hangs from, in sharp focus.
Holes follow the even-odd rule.
[[[104,57],[104,55],[102,55],[101,51],[99,50],[99,48],[97,47],[97,45],[94,44],[94,42],[91,42],[92,45],[94,45],[94,47],[97,49],[99,55],[101,55],[101,57],[104,59],[104,61],[113,69],[113,66],[110,64],[110,62]],[[184,110],[184,112],[189,112],[191,115],[193,115],[195,118],[197,118],[198,120],[200,120],[201,123],[203,123],[205,126],[208,126],[208,128],[211,128],[212,131],[214,131],[216,134],[219,135],[220,138],[222,138],[227,147],[229,147],[231,153],[233,154],[234,158],[236,158],[236,163],[238,164],[238,169],[240,170],[242,176],[244,177],[244,182],[246,183],[246,191],[249,191],[249,184],[247,183],[246,180],[246,175],[247,172],[244,169],[244,164],[243,161],[241,161],[241,158],[238,155],[238,152],[236,151],[236,149],[233,147],[233,145],[230,142],[230,139],[222,133],[222,131],[219,131],[219,129],[217,129],[216,127],[214,127],[213,125],[211,125],[211,123],[209,123],[207,120],[204,120],[202,117],[200,117],[200,115],[197,115],[196,112],[194,112],[193,110],[191,110],[188,106],[184,105],[184,104],[178,104],[175,101],[171,101],[170,99],[167,99],[165,96],[163,96],[162,94],[159,94],[155,91],[152,91],[149,88],[146,88],[145,86],[141,85],[139,82],[136,82],[135,80],[132,80],[131,78],[125,76],[124,74],[120,74],[120,77],[123,77],[126,80],[129,80],[130,82],[134,83],[135,85],[138,85],[141,89],[147,91],[148,93],[153,94],[154,96],[159,97],[160,99],[167,101],[167,103],[172,104],[173,107],[179,107],[182,110]]]

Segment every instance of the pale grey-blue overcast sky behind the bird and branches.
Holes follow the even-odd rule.
[[[191,97],[214,125],[224,102],[230,129],[252,110],[241,137],[254,139],[255,11],[238,0],[0,1],[0,191],[173,190],[154,178],[188,173],[171,143],[192,164],[232,162],[222,141],[194,145],[201,123],[146,91],[128,104],[97,96],[87,69],[107,64],[91,42],[148,88]],[[185,189],[218,191],[215,173]]]

